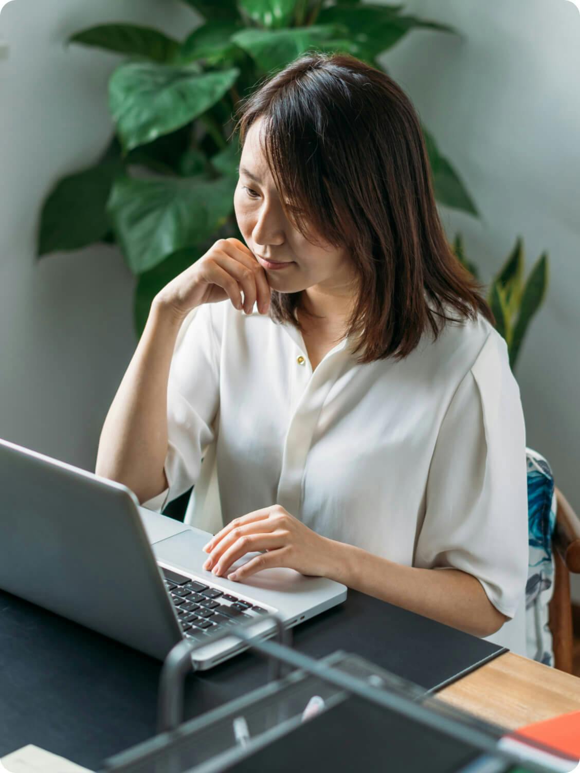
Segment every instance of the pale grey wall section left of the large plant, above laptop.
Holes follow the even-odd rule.
[[[181,39],[198,17],[167,0],[14,0],[0,15],[0,438],[91,471],[136,346],[135,279],[117,247],[35,251],[46,194],[109,141],[107,81],[124,59],[63,41],[113,21]]]

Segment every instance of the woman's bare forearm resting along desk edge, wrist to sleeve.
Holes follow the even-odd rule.
[[[405,567],[346,543],[327,540],[325,577],[453,628],[489,636],[510,619],[483,585],[459,569]]]

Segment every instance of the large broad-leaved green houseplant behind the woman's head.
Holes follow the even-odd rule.
[[[373,66],[411,29],[456,34],[401,5],[358,0],[185,0],[206,19],[183,40],[145,26],[91,27],[71,43],[127,59],[108,87],[114,135],[97,162],[60,179],[43,204],[38,256],[117,243],[138,278],[141,335],[155,294],[220,237],[242,240],[234,216],[238,100],[258,80],[315,49]],[[421,127],[439,203],[478,216],[435,139]]]

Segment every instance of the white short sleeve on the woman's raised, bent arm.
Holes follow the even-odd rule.
[[[196,484],[202,458],[215,440],[220,399],[219,340],[210,304],[197,306],[183,320],[173,349],[167,385],[168,450],[165,475],[169,488],[142,502],[161,512]]]

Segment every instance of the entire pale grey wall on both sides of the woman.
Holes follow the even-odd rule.
[[[383,57],[440,148],[459,169],[481,221],[445,210],[489,281],[525,240],[528,268],[551,260],[546,304],[517,365],[527,444],[554,468],[580,512],[580,14],[566,0],[411,0],[409,12],[462,38],[411,32]],[[89,165],[111,132],[107,79],[122,59],[72,32],[133,21],[182,37],[196,23],[166,0],[15,0],[0,39],[0,437],[94,470],[98,437],[135,350],[135,281],[116,247],[36,262],[39,209],[57,179]],[[575,594],[580,601],[580,584]]]

